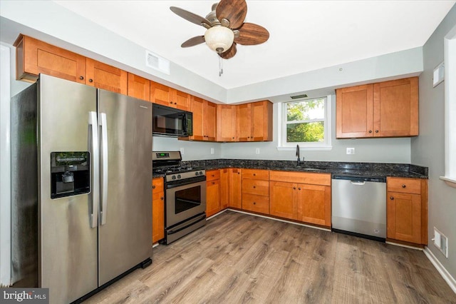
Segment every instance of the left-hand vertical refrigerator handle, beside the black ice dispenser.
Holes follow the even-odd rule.
[[[92,210],[90,213],[90,227],[98,226],[98,204],[100,200],[100,154],[98,151],[98,120],[97,113],[90,111],[88,113],[88,125],[90,126],[89,148],[92,153],[90,157],[90,166],[92,166]]]

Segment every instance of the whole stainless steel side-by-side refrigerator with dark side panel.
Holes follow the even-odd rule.
[[[11,146],[14,286],[70,303],[150,265],[152,103],[41,74]]]

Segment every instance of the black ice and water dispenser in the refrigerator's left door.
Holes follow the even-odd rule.
[[[90,154],[51,152],[51,198],[90,192]]]

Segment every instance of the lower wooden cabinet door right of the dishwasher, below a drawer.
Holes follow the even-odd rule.
[[[387,236],[395,240],[421,243],[421,196],[388,192]]]

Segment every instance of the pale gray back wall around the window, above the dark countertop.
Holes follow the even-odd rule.
[[[361,161],[380,163],[410,163],[410,138],[336,139],[336,96],[332,96],[332,150],[305,151],[301,157],[307,161]],[[274,141],[264,143],[222,143],[223,158],[295,160],[296,151],[277,150],[277,108],[274,103]],[[255,149],[260,153],[256,154]],[[347,155],[346,148],[355,148]]]

